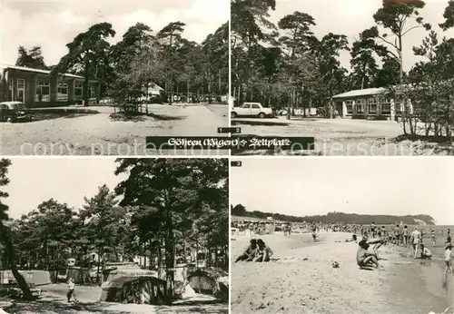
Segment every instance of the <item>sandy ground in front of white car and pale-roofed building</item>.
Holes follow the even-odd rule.
[[[328,156],[410,156],[453,155],[453,143],[397,141],[402,135],[400,124],[389,121],[350,119],[262,119],[263,123],[289,125],[249,125],[257,119],[232,119],[232,125],[242,128],[242,134],[261,136],[313,136],[315,150],[308,152],[242,152],[241,154],[328,155]]]

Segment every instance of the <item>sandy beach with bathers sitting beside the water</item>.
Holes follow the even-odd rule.
[[[232,313],[427,314],[448,308],[450,299],[442,294],[437,277],[441,269],[436,268],[437,276],[428,270],[437,281],[436,293],[429,293],[419,278],[419,261],[402,258],[399,249],[388,245],[380,249],[380,257],[388,259],[380,261],[384,270],[360,270],[358,244],[336,242],[350,237],[321,232],[321,242],[313,243],[310,234],[262,236],[274,250],[273,258],[280,260],[232,265]],[[233,259],[249,240],[232,240]],[[339,269],[332,268],[333,260]]]

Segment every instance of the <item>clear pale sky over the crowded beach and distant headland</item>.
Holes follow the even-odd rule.
[[[231,170],[231,204],[294,216],[330,211],[428,214],[454,225],[449,158],[243,158]]]

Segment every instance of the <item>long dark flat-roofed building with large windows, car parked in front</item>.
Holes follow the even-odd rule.
[[[51,77],[50,71],[24,66],[7,65],[2,67],[3,99],[18,101],[26,107],[64,106],[82,101],[84,98],[84,77],[74,74],[58,74]],[[96,101],[100,96],[100,84],[90,80],[88,97]]]

